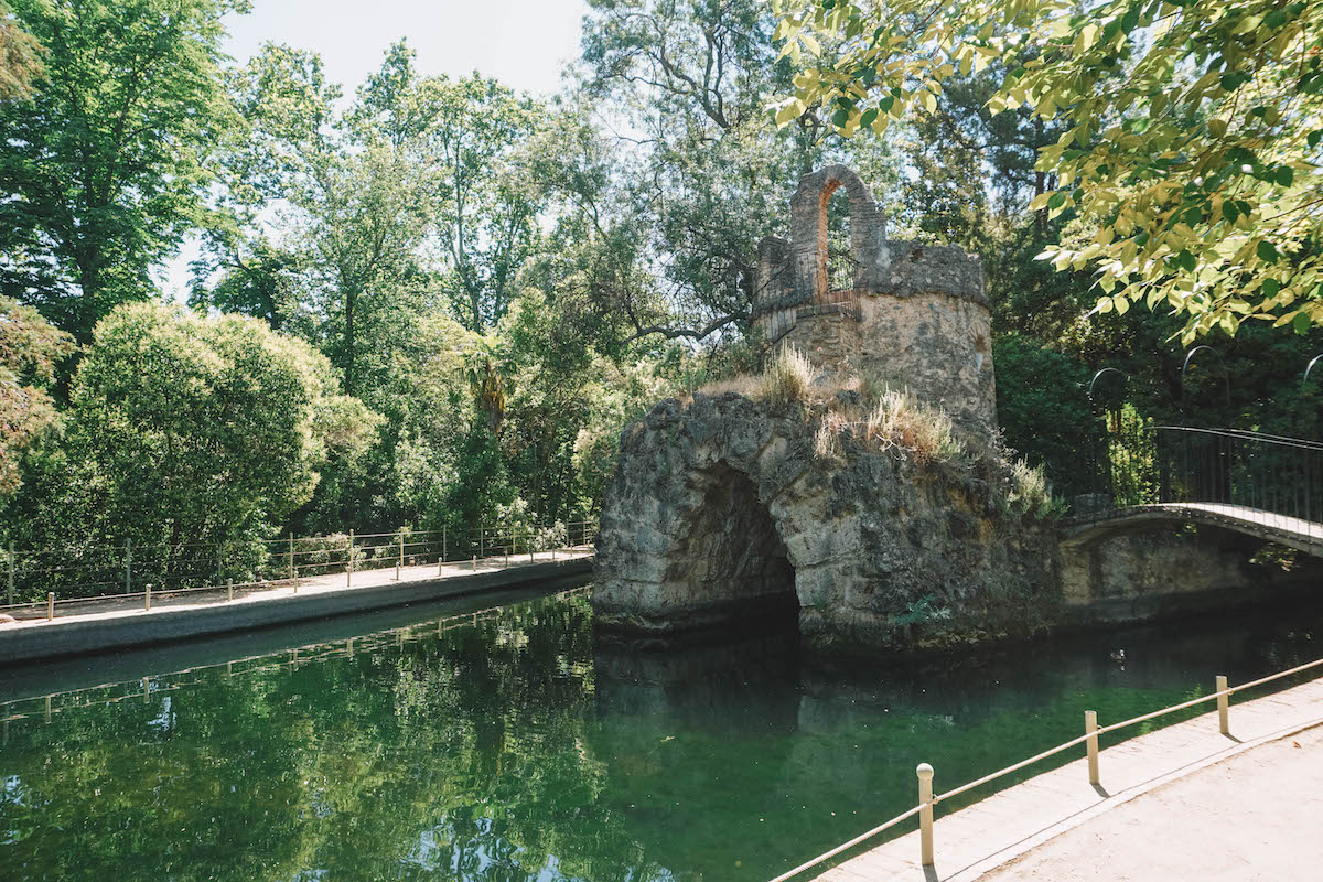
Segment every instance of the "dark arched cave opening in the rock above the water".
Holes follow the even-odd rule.
[[[721,461],[684,542],[695,600],[713,623],[798,623],[795,569],[767,506],[746,475]]]

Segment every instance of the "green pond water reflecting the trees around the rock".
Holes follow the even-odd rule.
[[[582,591],[459,611],[0,672],[0,701],[33,696],[7,706],[0,878],[765,881],[912,805],[919,762],[949,788],[1085,709],[1323,655],[1302,611],[954,672],[810,661],[792,635],[611,649]]]

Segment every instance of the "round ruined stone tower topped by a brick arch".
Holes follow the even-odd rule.
[[[845,188],[849,254],[831,254],[827,202]],[[828,165],[790,197],[791,241],[758,245],[754,327],[773,350],[875,377],[941,407],[971,439],[996,431],[991,315],[983,263],[959,247],[888,241],[873,194]]]

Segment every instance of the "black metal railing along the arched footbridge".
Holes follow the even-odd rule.
[[[1234,428],[1129,426],[1110,431],[1105,446],[1093,508],[1208,502],[1323,521],[1323,443]]]

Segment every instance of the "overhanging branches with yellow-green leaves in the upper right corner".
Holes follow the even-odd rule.
[[[1252,319],[1323,324],[1323,4],[1257,0],[1093,7],[779,3],[777,37],[800,60],[782,124],[830,112],[836,132],[885,131],[945,83],[1005,69],[992,112],[1028,108],[1060,136],[1036,169],[1056,177],[1033,208],[1078,213],[1045,258],[1093,268],[1097,311],[1134,303],[1183,313],[1181,339]]]

